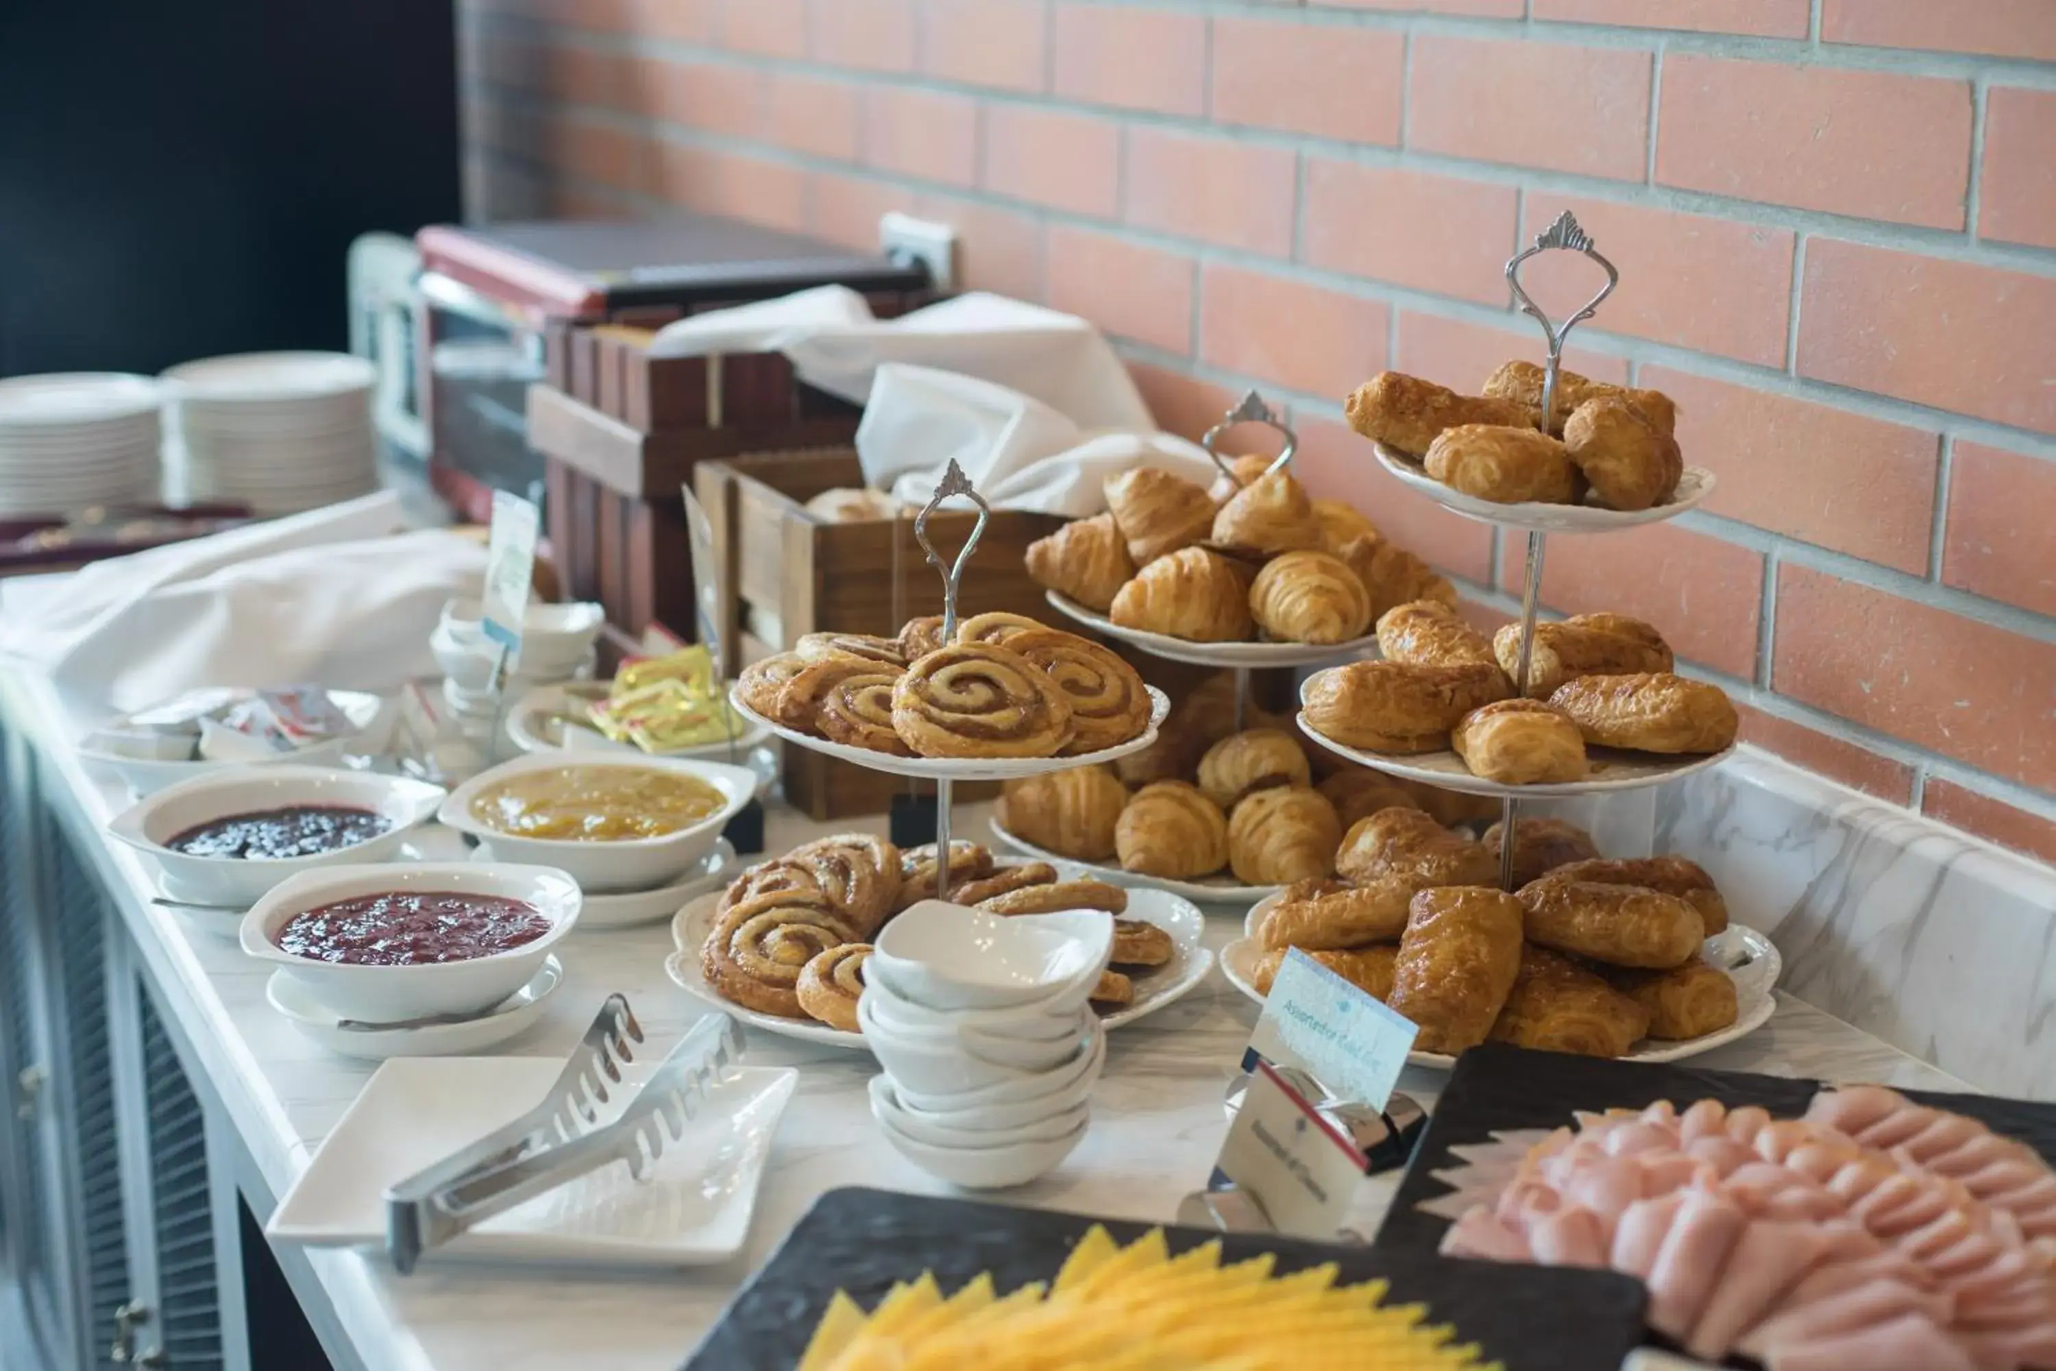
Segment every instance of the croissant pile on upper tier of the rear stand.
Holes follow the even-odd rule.
[[[1341,499],[1236,458],[1225,502],[1155,467],[1106,479],[1106,514],[1028,545],[1028,573],[1127,629],[1197,643],[1345,643],[1402,600],[1456,590]]]

